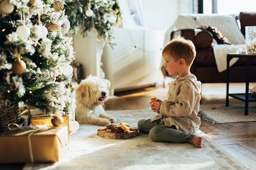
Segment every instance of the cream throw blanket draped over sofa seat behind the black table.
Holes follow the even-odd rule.
[[[212,43],[212,48],[213,48],[218,71],[223,72],[224,70],[227,69],[227,54],[236,53],[236,50],[238,48],[245,49],[245,44],[228,45],[228,44]],[[229,66],[232,66],[233,64],[235,64],[237,60],[238,58],[232,58],[230,60]]]

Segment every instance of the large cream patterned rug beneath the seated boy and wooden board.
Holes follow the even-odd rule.
[[[137,127],[140,119],[152,118],[151,110],[107,111],[117,119]],[[234,159],[219,144],[203,135],[203,147],[189,143],[153,142],[146,134],[127,140],[97,136],[99,126],[80,125],[70,136],[69,151],[55,164],[26,164],[24,170],[134,170],[134,169],[249,169]]]

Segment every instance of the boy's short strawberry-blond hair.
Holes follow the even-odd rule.
[[[162,55],[172,56],[175,61],[184,58],[187,65],[191,66],[196,57],[196,48],[192,41],[176,36],[164,47]]]

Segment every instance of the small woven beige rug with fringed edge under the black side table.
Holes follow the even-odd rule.
[[[215,109],[212,109],[215,106]],[[256,104],[249,103],[248,115],[244,115],[244,104],[202,104],[198,116],[212,125],[220,123],[256,121]]]

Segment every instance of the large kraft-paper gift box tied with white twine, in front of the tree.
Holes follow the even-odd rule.
[[[68,151],[67,126],[15,126],[0,133],[0,163],[58,162]]]

